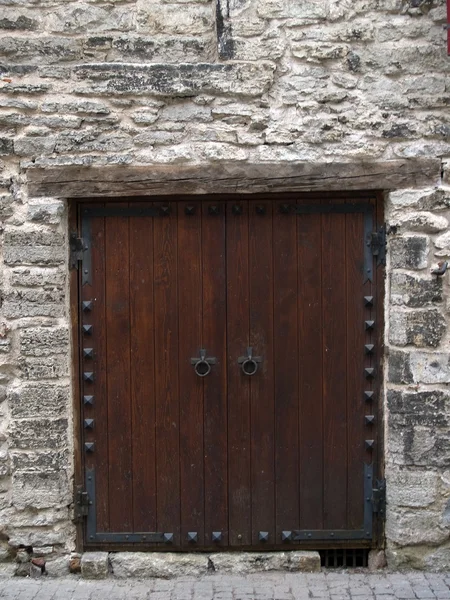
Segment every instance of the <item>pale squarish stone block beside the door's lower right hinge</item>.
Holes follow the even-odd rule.
[[[388,469],[386,472],[389,506],[427,507],[437,499],[438,474],[433,471]]]

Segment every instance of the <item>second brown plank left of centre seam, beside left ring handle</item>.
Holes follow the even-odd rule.
[[[195,214],[185,213],[187,206]],[[191,357],[199,355],[202,339],[201,204],[178,203],[178,314],[180,386],[181,544],[191,547],[188,532],[204,544],[203,378],[195,374]],[[205,348],[211,356],[212,348]]]

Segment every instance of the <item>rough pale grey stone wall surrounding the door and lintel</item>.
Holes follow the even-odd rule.
[[[0,558],[75,540],[67,203],[29,197],[28,170],[432,157],[445,173],[444,22],[445,0],[0,0]],[[393,566],[450,564],[448,276],[430,274],[449,183],[387,204]]]

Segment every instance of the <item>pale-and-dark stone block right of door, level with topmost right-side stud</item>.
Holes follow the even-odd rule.
[[[443,281],[441,277],[424,278],[400,271],[391,274],[391,302],[411,308],[421,308],[442,302]]]

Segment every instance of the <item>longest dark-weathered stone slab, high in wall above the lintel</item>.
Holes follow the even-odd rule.
[[[85,64],[74,69],[80,94],[261,96],[273,79],[274,65],[253,63]]]

